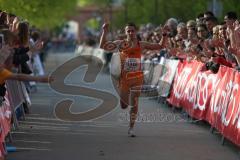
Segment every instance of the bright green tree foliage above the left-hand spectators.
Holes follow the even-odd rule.
[[[77,0],[0,0],[0,8],[38,28],[53,28],[74,13]]]

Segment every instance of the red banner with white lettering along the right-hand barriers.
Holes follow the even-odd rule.
[[[179,63],[168,102],[208,121],[240,146],[240,73],[221,66],[213,74],[202,66],[197,61]]]

